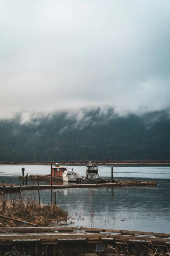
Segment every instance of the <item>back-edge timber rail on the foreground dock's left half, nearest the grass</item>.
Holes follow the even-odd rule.
[[[73,231],[78,227],[32,227],[32,228],[0,228],[0,232],[34,232],[34,231]]]

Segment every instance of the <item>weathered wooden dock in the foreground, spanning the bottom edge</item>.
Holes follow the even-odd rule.
[[[147,255],[151,250],[153,254],[156,250],[164,254],[170,249],[170,234],[86,227],[0,228],[0,255],[12,247],[21,255],[32,256],[44,253]]]

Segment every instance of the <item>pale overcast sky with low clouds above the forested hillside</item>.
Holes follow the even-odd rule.
[[[169,0],[0,0],[0,117],[170,106]]]

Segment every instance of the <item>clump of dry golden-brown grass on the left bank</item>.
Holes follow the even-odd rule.
[[[39,227],[49,226],[54,222],[67,221],[68,213],[60,206],[50,204],[38,204],[33,196],[6,199],[0,195],[0,214],[7,217],[34,223]],[[23,224],[0,218],[0,227],[22,227]],[[28,225],[27,225],[28,226]]]

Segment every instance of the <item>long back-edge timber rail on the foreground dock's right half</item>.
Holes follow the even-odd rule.
[[[145,231],[101,229],[101,228],[88,228],[88,227],[80,227],[79,230],[108,232],[108,233],[120,233],[120,234],[133,234],[133,235],[150,235],[150,236],[157,236],[157,237],[164,237],[164,238],[170,237],[170,234],[167,234],[167,233],[155,233],[155,232],[145,232]]]

